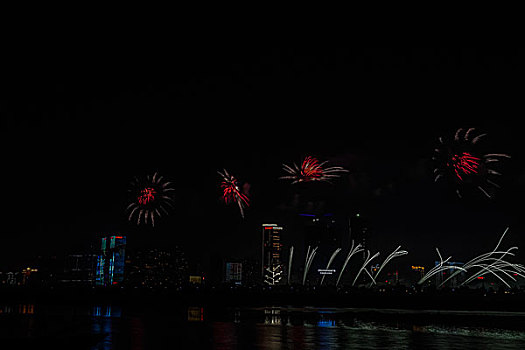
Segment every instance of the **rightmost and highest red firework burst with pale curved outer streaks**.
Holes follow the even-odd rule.
[[[486,134],[474,136],[474,131],[474,128],[466,131],[460,128],[450,140],[439,138],[439,145],[432,158],[436,162],[434,181],[448,179],[453,182],[459,197],[463,188],[471,187],[491,198],[491,191],[500,187],[495,181],[501,173],[494,167],[510,156],[502,153],[483,154],[477,144]]]

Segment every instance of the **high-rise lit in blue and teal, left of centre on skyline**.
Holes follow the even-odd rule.
[[[108,236],[101,239],[100,255],[97,258],[95,284],[97,286],[118,285],[124,280],[126,237]]]

